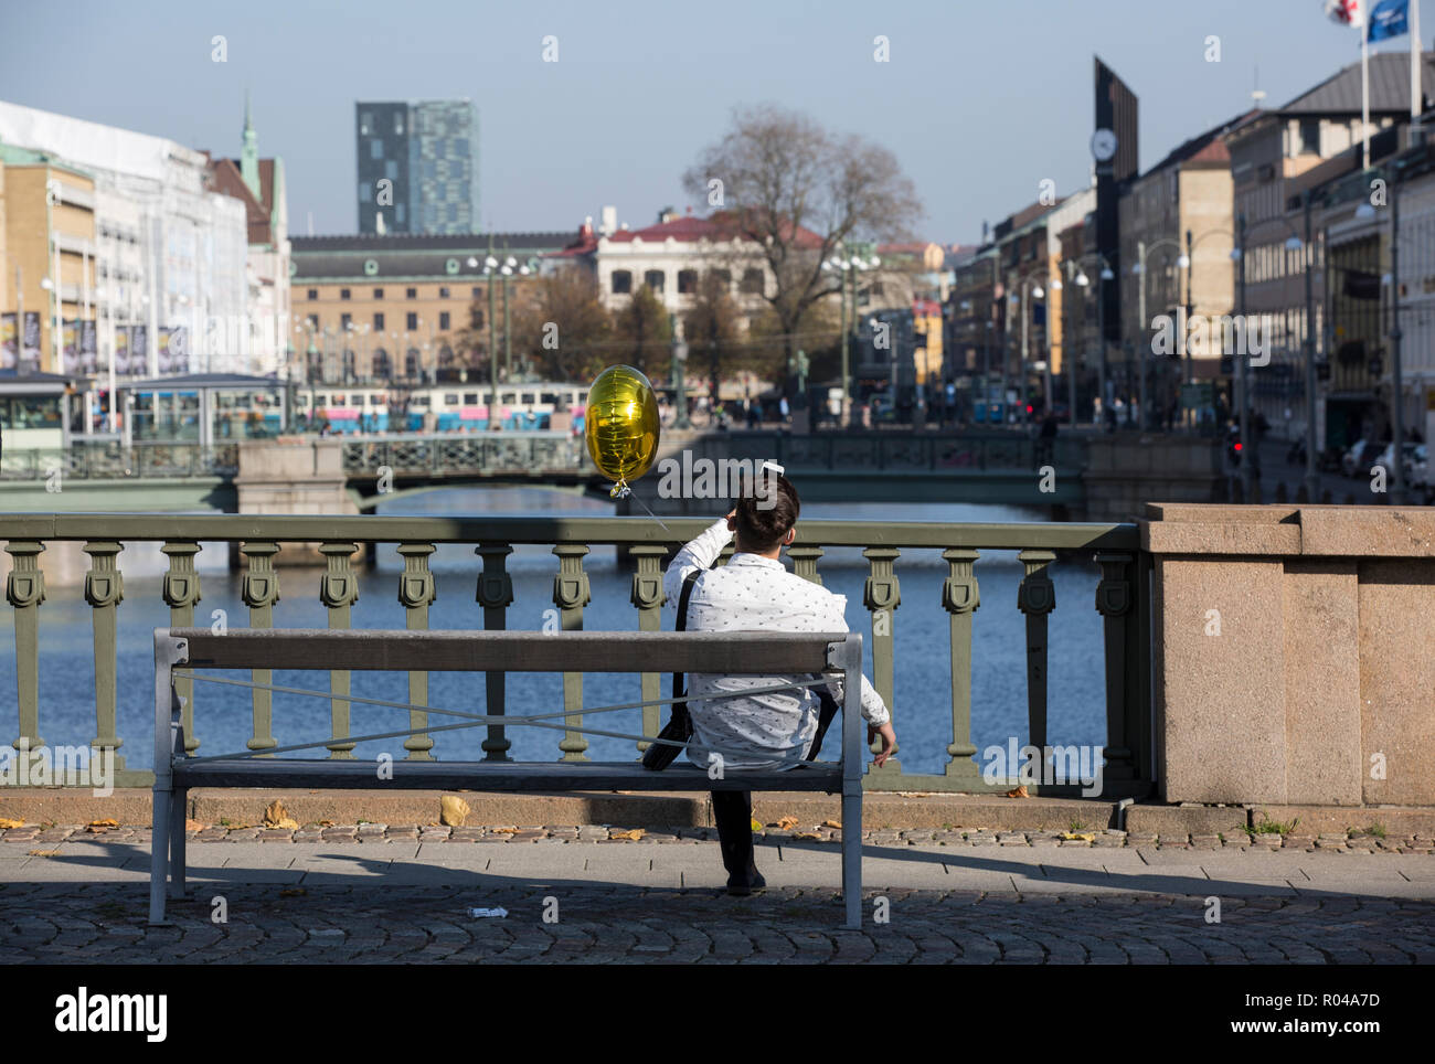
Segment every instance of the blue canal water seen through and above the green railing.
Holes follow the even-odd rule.
[[[611,508],[600,500],[541,489],[451,489],[389,503],[385,515],[583,515],[606,516]],[[1039,512],[1006,506],[956,503],[842,503],[804,506],[804,519],[924,521],[924,522],[1016,522],[1042,521]],[[248,622],[240,599],[240,574],[225,568],[225,546],[205,543],[198,555],[204,601],[195,609],[195,624],[218,619],[225,611],[231,627]],[[518,546],[509,556],[514,604],[508,608],[511,630],[541,631],[552,608],[552,576],[557,558],[551,548]],[[472,546],[441,545],[430,559],[438,582],[438,601],[429,608],[432,628],[482,628],[482,608],[475,601],[481,559]],[[166,627],[169,611],[161,598],[165,558],[158,545],[131,543],[121,555],[125,572],[125,601],[119,607],[119,734],[121,756],[128,769],[152,766],[154,651],[152,631]],[[633,630],[637,611],[629,602],[630,574],[620,571],[610,548],[594,548],[584,559],[593,586],[584,627]],[[360,575],[360,598],[353,607],[353,625],[360,628],[403,628],[405,611],[397,602],[402,559],[392,546],[382,546],[377,568]],[[828,589],[847,597],[847,621],[854,631],[871,634],[871,619],[862,607],[867,562],[858,549],[832,549],[818,571]],[[947,565],[941,552],[904,551],[897,561],[901,607],[894,614],[895,635],[895,723],[905,771],[940,773],[949,761],[951,741],[951,674],[949,615],[941,608],[941,584]],[[976,565],[982,607],[976,611],[971,648],[973,741],[979,751],[1004,747],[1010,737],[1026,741],[1026,625],[1016,608],[1022,565],[1015,551],[984,551]],[[1049,617],[1049,741],[1101,744],[1105,737],[1102,622],[1093,608],[1099,571],[1091,561],[1063,561],[1052,566],[1056,609]],[[274,625],[323,628],[327,611],[319,601],[319,569],[283,569],[281,601],[274,608]],[[92,609],[82,588],[52,588],[40,607],[40,736],[52,744],[88,744],[95,737],[95,673]],[[551,617],[551,614],[550,614]],[[673,618],[664,612],[664,628]],[[871,675],[868,657],[868,675]],[[221,674],[228,675],[228,674]],[[276,673],[274,683],[327,690],[324,673]],[[663,678],[663,693],[669,680]],[[197,684],[195,733],[198,753],[220,754],[245,749],[251,736],[250,693],[215,684]],[[0,741],[16,734],[14,631],[9,608],[0,608]],[[373,698],[406,701],[408,678],[402,674],[354,673],[352,693]],[[636,675],[590,675],[585,706],[639,700]],[[429,704],[465,713],[484,713],[484,680],[475,674],[432,674]],[[508,678],[508,713],[560,711],[560,675],[512,674]],[[353,704],[352,734],[399,730],[408,713],[393,707]],[[666,710],[664,710],[666,718]],[[329,736],[327,698],[274,695],[274,737],[280,744],[317,741]],[[453,718],[430,717],[430,724]],[[613,731],[637,733],[640,710],[590,717],[588,724]],[[9,733],[9,734],[4,734]],[[835,734],[835,733],[834,733]],[[511,756],[519,760],[554,760],[560,756],[561,731],[511,727]],[[433,753],[442,759],[481,757],[484,728],[462,728],[435,736]],[[590,737],[588,756],[596,760],[636,757],[630,740]],[[359,744],[356,757],[375,759],[389,753],[406,756],[402,738]],[[834,754],[835,747],[825,751]],[[321,756],[304,753],[297,756]],[[980,759],[980,756],[979,756]]]

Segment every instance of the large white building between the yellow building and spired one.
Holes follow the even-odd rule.
[[[211,189],[204,152],[159,136],[0,100],[0,141],[47,152],[95,178],[99,369],[115,360],[116,334],[146,331],[146,358],[129,376],[260,371],[221,350],[212,320],[245,323],[245,206]],[[162,350],[161,340],[174,337]],[[129,361],[129,360],[126,360]]]

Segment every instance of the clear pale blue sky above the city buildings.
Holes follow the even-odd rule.
[[[776,102],[898,158],[921,235],[1089,175],[1092,54],[1141,99],[1141,165],[1250,105],[1280,105],[1359,57],[1322,0],[723,0],[448,3],[0,0],[0,99],[238,155],[244,90],[281,155],[290,221],[353,232],[357,99],[472,98],[481,209],[497,229],[567,229],[604,204],[634,227],[690,202],[683,169],[732,108]],[[211,10],[212,9],[212,10]],[[1435,34],[1435,0],[1422,30]],[[224,34],[228,62],[211,62]],[[541,59],[558,37],[558,62]],[[875,36],[891,62],[872,60]],[[1220,37],[1221,62],[1205,60]],[[1405,37],[1379,46],[1406,49]],[[700,212],[702,205],[693,204]]]

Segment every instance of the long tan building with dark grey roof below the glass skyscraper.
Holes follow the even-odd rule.
[[[571,232],[293,237],[290,343],[306,380],[433,380],[479,366],[461,331],[502,344],[502,267],[509,314],[532,298],[542,258]],[[485,274],[488,260],[498,267]],[[527,271],[527,272],[524,272]],[[494,281],[489,311],[489,281]],[[485,344],[486,347],[486,344]],[[486,353],[482,356],[486,364]]]

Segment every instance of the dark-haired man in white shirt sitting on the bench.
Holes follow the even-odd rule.
[[[687,601],[687,631],[788,631],[845,632],[845,595],[834,595],[818,584],[795,576],[782,565],[782,548],[796,536],[802,503],[796,489],[771,466],[748,485],[743,498],[726,518],[687,543],[667,566],[663,589],[676,611],[684,578],[699,571]],[[728,565],[712,569],[733,532],[736,552]],[[703,695],[772,687],[812,677],[728,677],[693,674],[687,678],[687,710],[693,721],[689,760],[709,767],[707,746],[720,750],[722,767],[795,769],[814,760],[822,734],[842,700],[839,680],[825,687],[723,698],[707,704]],[[883,698],[862,677],[862,717],[867,741],[883,737],[875,763],[883,764],[897,744],[891,714]],[[766,886],[752,853],[752,792],[715,790],[713,816],[728,869],[728,893],[746,896]]]

